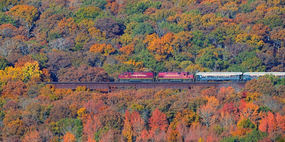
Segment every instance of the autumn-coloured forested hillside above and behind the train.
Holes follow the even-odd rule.
[[[113,78],[123,71],[284,71],[283,4],[3,1],[0,67],[32,55],[52,81],[61,68],[94,62]],[[93,63],[89,52],[99,53]]]

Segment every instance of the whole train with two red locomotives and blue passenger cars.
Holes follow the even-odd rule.
[[[159,72],[155,79],[153,72],[124,72],[118,75],[118,82],[247,82],[264,75],[285,78],[285,72]]]

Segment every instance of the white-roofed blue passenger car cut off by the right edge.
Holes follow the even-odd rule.
[[[257,79],[264,75],[278,76],[279,78],[285,78],[285,72],[245,72],[243,73],[243,81]]]

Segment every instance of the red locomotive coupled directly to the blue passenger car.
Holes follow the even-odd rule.
[[[159,72],[159,82],[193,82],[194,75],[189,72]]]

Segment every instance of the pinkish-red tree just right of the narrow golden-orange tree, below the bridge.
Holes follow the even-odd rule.
[[[133,127],[134,136],[140,137],[144,129],[144,121],[139,112],[134,111],[131,114],[131,125]]]

